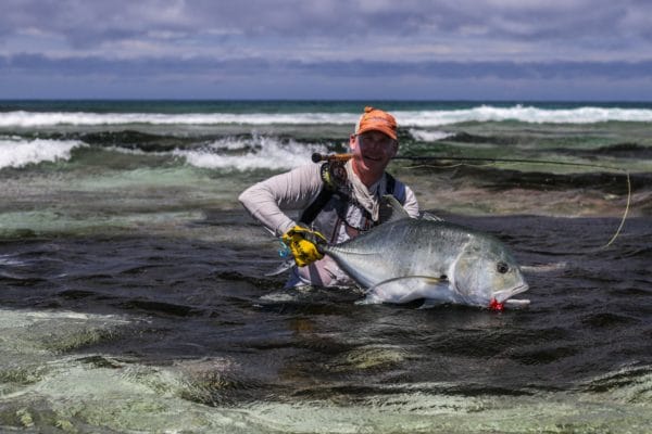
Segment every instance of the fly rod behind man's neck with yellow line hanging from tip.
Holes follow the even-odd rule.
[[[313,163],[321,162],[342,162],[346,163],[353,157],[353,154],[319,154],[315,152],[312,154],[311,159]],[[627,219],[627,215],[629,214],[629,205],[631,203],[631,180],[629,178],[629,171],[626,169],[622,169],[619,167],[605,166],[600,164],[589,164],[589,163],[570,163],[570,162],[553,162],[547,159],[528,159],[528,158],[498,158],[498,157],[464,157],[464,156],[427,156],[427,155],[401,155],[394,156],[392,159],[409,159],[409,161],[453,161],[453,162],[488,162],[488,163],[531,163],[531,164],[553,164],[561,166],[575,166],[575,167],[592,167],[592,168],[601,168],[609,170],[618,170],[625,174],[627,179],[627,203],[625,205],[625,212],[623,213],[623,217],[620,218],[620,225],[616,232],[611,238],[611,240],[603,245],[601,248],[606,248],[613,244],[616,238],[620,234],[623,227],[625,226],[625,220]]]

